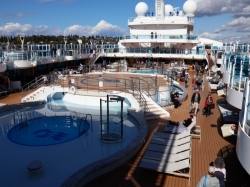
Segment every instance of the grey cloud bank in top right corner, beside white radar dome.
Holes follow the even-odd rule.
[[[196,17],[215,16],[225,13],[233,17],[250,16],[249,0],[194,0],[198,5]]]

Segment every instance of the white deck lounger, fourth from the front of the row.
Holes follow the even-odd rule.
[[[150,143],[151,144],[158,144],[158,145],[180,146],[180,145],[183,145],[183,144],[188,143],[190,141],[191,141],[190,136],[182,138],[180,140],[153,137],[151,139]]]

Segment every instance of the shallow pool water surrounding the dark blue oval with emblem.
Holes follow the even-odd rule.
[[[91,97],[80,98],[73,95],[71,95],[71,97],[67,96],[66,100],[76,100],[78,101],[78,103],[84,103],[84,101],[87,100],[89,103],[93,103],[93,105],[95,105],[96,101],[100,102],[100,99],[97,97],[92,100]],[[87,104],[86,106],[88,105],[89,104]],[[85,108],[84,105],[82,105],[82,107],[77,106],[75,108],[73,108],[73,106],[74,103],[71,103],[71,109],[74,109],[73,112],[75,112],[79,118],[81,118],[81,111],[87,111],[86,113],[82,113],[82,116],[86,116],[86,114],[89,113],[88,108]],[[66,104],[63,107],[63,110],[55,112],[49,109],[48,105],[45,104],[37,107],[25,108],[25,113],[27,113],[27,116],[30,120],[34,118],[34,122],[38,121],[39,118],[45,118],[45,115],[48,117],[61,117],[65,115],[66,117],[73,117],[71,115],[73,114],[72,111],[69,111],[67,107],[68,106]],[[93,106],[92,110],[94,111]],[[20,184],[22,184],[22,186],[36,187],[60,186],[66,179],[69,178],[69,176],[71,176],[75,172],[92,163],[96,163],[105,158],[109,158],[111,155],[122,151],[124,148],[129,146],[131,142],[137,139],[136,137],[139,133],[138,122],[136,122],[130,116],[125,115],[123,123],[123,141],[115,144],[107,144],[100,141],[100,115],[98,114],[99,107],[96,108],[95,113],[92,115],[93,121],[96,121],[96,123],[92,124],[92,129],[90,126],[87,133],[83,133],[81,136],[78,136],[75,139],[58,144],[54,143],[49,146],[25,146],[20,143],[14,143],[13,141],[10,141],[7,136],[8,132],[11,131],[10,129],[13,129],[13,132],[17,132],[14,130],[15,125],[13,125],[14,120],[12,112],[9,112],[7,114],[1,113],[0,149],[2,153],[0,157],[3,161],[0,167],[1,185],[6,187],[20,186]],[[66,117],[64,119],[66,119]],[[111,121],[112,120],[117,121],[117,117],[113,115],[111,117]],[[34,125],[37,124],[38,123],[34,123]],[[58,125],[58,123],[56,124]],[[111,128],[113,129],[115,128],[115,126],[116,125]],[[16,127],[17,129],[20,128],[20,126]],[[40,128],[34,131],[43,130],[44,127],[45,125],[40,126]],[[23,131],[21,131],[23,135],[26,132],[32,132],[30,130],[32,129],[31,125],[28,126],[26,130],[25,128],[26,127],[24,126]],[[71,128],[75,128],[74,123]],[[65,128],[65,130],[69,129],[70,128]],[[36,133],[36,135],[39,133]],[[31,175],[26,168],[26,165],[34,160],[40,160],[43,162],[43,171],[36,176]],[[13,176],[15,176],[14,180]]]

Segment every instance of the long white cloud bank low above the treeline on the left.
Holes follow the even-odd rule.
[[[7,23],[0,27],[0,35],[79,35],[79,36],[120,36],[128,33],[125,29],[112,25],[101,20],[96,26],[73,25],[64,31],[57,27],[48,27],[46,25],[32,26],[30,24],[21,25],[19,23]]]

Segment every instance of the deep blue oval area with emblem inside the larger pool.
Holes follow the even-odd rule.
[[[39,117],[21,122],[10,129],[8,138],[17,144],[46,146],[71,141],[85,134],[90,128],[88,121],[70,116]]]

